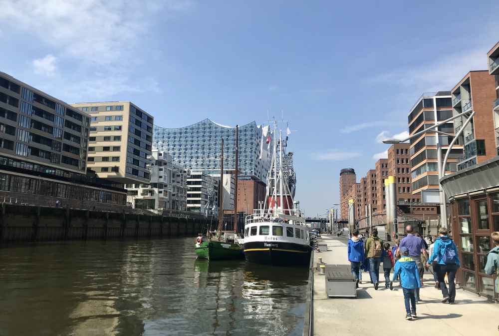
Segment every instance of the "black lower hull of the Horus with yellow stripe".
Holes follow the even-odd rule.
[[[245,243],[245,258],[250,263],[308,267],[310,255],[310,246],[303,244],[275,241]]]

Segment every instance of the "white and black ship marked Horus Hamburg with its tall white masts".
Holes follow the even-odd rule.
[[[278,132],[279,141],[273,141],[265,205],[245,220],[245,258],[259,264],[308,267],[311,254],[308,231],[298,202],[293,202],[292,153],[285,154],[286,143],[282,141],[282,131]],[[277,134],[275,121],[273,134]]]

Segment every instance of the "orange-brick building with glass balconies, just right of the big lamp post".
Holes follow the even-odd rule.
[[[496,99],[494,77],[488,70],[470,71],[452,89],[454,115],[475,111],[473,119],[466,125],[460,143],[464,144],[464,157],[458,170],[492,159],[497,155],[494,131],[494,114],[491,102]],[[463,127],[467,117],[454,121],[456,132]]]

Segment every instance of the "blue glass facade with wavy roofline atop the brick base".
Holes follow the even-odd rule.
[[[181,128],[154,126],[153,148],[168,152],[174,163],[185,168],[219,173],[222,138],[224,169],[235,169],[235,129],[209,119]],[[267,146],[265,139],[262,139],[261,126],[254,121],[239,127],[238,168],[241,175],[254,176],[266,182],[271,161]]]

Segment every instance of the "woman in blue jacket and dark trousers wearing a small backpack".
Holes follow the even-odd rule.
[[[456,278],[456,272],[460,267],[458,249],[452,239],[447,237],[447,228],[440,228],[438,233],[439,238],[435,240],[433,253],[430,258],[428,258],[428,261],[437,259],[439,266],[437,269],[437,277],[444,297],[442,303],[448,302],[454,304],[454,300],[456,299],[456,284],[454,283],[454,279]],[[427,267],[430,267],[428,262]],[[449,281],[449,289],[447,289],[447,286],[445,285],[446,274]]]

